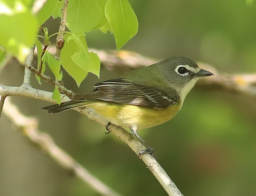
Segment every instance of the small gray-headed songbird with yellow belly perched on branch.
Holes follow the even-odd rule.
[[[213,73],[200,69],[189,58],[168,58],[123,77],[97,83],[92,92],[77,94],[74,100],[42,109],[54,114],[76,107],[91,108],[106,121],[129,128],[146,148],[139,154],[153,154],[137,130],[169,121],[180,110],[198,78],[210,75]]]

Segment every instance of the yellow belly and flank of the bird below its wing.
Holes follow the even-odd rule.
[[[176,103],[165,109],[154,109],[136,105],[97,101],[86,107],[94,109],[97,114],[115,125],[123,126],[124,128],[136,125],[138,129],[145,129],[169,121],[179,111],[181,104]]]

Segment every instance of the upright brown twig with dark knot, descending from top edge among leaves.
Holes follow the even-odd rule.
[[[63,6],[61,9],[61,19],[60,19],[60,28],[59,28],[59,34],[56,38],[56,51],[55,51],[55,58],[57,60],[60,60],[60,52],[61,49],[64,46],[64,31],[66,28],[66,21],[67,21],[67,7],[68,7],[68,0],[63,0]]]

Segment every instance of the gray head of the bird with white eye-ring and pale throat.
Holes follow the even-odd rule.
[[[187,57],[172,57],[159,62],[160,70],[170,87],[176,89],[181,99],[194,87],[199,77],[213,75],[213,73],[200,69],[198,65]]]

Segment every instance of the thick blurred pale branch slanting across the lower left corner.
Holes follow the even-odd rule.
[[[41,133],[38,130],[38,121],[21,114],[18,108],[10,103],[9,99],[6,100],[4,114],[12,121],[12,123],[22,129],[23,135],[25,135],[29,141],[39,146],[42,151],[46,152],[47,155],[53,158],[64,169],[75,173],[77,177],[89,184],[95,191],[105,196],[121,196],[98,180],[70,155],[57,146],[48,134]]]

